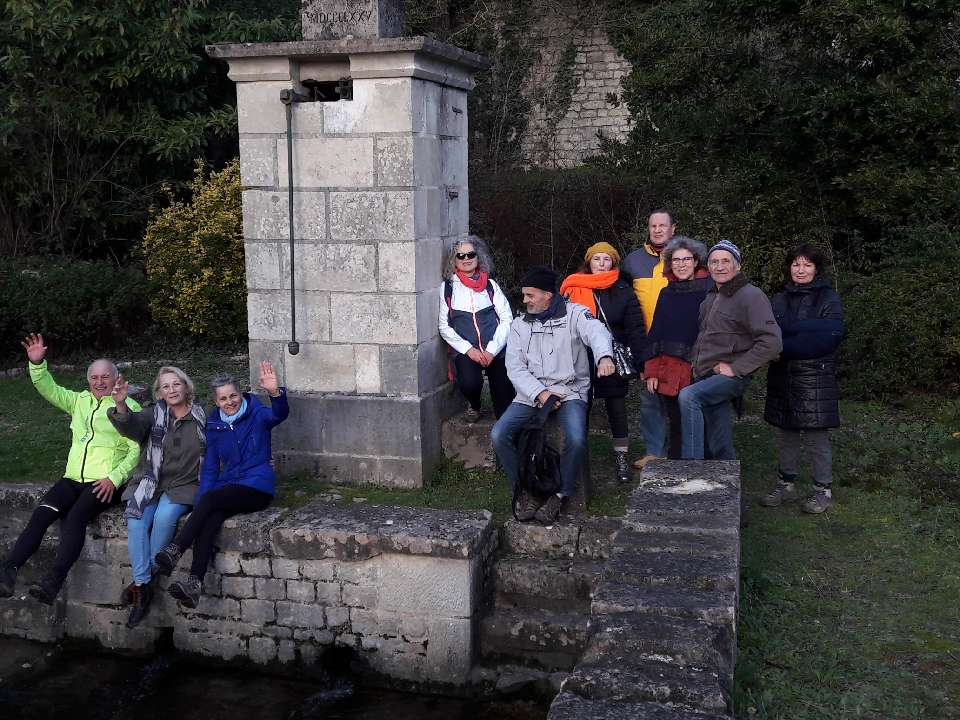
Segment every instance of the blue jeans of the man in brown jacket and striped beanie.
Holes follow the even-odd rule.
[[[711,375],[680,391],[680,454],[684,460],[703,460],[703,439],[713,460],[735,460],[730,401],[743,394],[750,376]]]

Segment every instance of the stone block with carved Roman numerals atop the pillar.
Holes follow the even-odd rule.
[[[304,40],[399,37],[403,0],[303,0]]]

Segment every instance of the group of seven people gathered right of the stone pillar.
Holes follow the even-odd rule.
[[[741,271],[743,258],[732,242],[708,250],[676,234],[665,209],[650,214],[647,237],[622,260],[608,243],[591,246],[559,286],[552,270],[530,270],[521,279],[525,312],[516,318],[491,278],[483,240],[471,235],[448,248],[439,328],[450,347],[450,375],[469,403],[471,422],[483,412],[484,374],[489,380],[496,417],[491,439],[515,491],[515,516],[549,523],[562,512],[586,452],[595,398],[606,406],[617,479],[631,479],[625,398],[634,377],[646,448],[635,468],[657,458],[734,459],[733,408],[768,364],[764,418],[778,428],[779,467],[760,503],[774,507],[799,498],[805,438],[814,484],[801,508],[824,512],[832,502],[828,430],[839,425],[833,353],[844,322],[823,253],[807,244],[791,250],[784,291],[771,303]],[[518,487],[517,443],[548,401],[564,433],[561,487],[537,497]]]

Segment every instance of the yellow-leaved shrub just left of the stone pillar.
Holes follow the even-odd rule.
[[[205,172],[197,163],[192,198],[157,212],[143,239],[152,286],[150,312],[174,332],[236,339],[247,332],[240,161]]]

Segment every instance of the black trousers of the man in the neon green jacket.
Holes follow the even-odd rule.
[[[60,545],[47,579],[58,587],[67,578],[70,568],[80,557],[87,539],[87,525],[100,513],[120,502],[120,491],[113,493],[110,502],[103,502],[93,494],[93,483],[81,483],[62,478],[41,498],[10,551],[7,563],[20,568],[40,547],[43,536],[55,520],[60,521]]]

